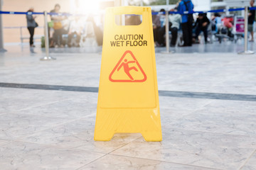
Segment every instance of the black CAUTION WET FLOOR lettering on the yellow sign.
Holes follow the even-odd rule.
[[[143,34],[114,35],[110,45],[111,47],[147,46],[147,41],[143,40]]]

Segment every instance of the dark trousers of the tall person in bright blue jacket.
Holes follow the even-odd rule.
[[[193,26],[191,22],[181,23],[181,29],[183,33],[184,46],[192,45],[192,30]]]

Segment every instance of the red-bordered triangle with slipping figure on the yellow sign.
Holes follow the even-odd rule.
[[[114,77],[117,72],[122,72],[122,76]],[[110,73],[109,79],[112,82],[144,82],[146,74],[134,54],[127,50]]]

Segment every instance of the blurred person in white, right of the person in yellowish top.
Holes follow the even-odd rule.
[[[82,23],[80,22],[80,18],[78,16],[75,16],[75,20],[71,21],[70,23],[70,28],[68,32],[68,47],[71,47],[71,40],[75,36],[75,41],[77,42],[77,47],[79,46],[80,38],[81,38],[81,33],[82,33]]]

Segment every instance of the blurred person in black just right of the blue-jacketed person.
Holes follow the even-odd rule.
[[[210,24],[209,19],[206,16],[206,13],[199,13],[198,18],[196,19],[196,41],[198,41],[198,35],[203,31],[203,36],[207,44],[208,40],[208,26]]]

